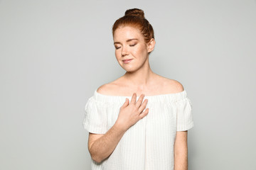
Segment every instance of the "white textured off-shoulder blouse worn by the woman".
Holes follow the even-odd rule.
[[[95,90],[85,104],[84,128],[88,132],[105,134],[117,120],[125,98],[131,101],[132,96],[107,96]],[[193,127],[191,101],[185,90],[144,96],[144,100],[146,98],[148,115],[124,133],[110,157],[100,164],[91,159],[92,170],[174,169],[176,131]]]

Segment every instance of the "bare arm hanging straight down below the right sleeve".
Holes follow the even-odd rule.
[[[188,145],[186,131],[177,131],[174,142],[174,170],[188,170]]]

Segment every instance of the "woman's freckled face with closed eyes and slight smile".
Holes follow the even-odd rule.
[[[119,27],[114,31],[114,47],[117,62],[127,72],[134,72],[142,67],[149,55],[142,33],[131,26]]]

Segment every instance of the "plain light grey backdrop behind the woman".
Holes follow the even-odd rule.
[[[191,170],[256,169],[256,1],[0,1],[0,169],[90,169],[87,99],[124,70],[111,28],[142,8],[151,69],[193,103]]]

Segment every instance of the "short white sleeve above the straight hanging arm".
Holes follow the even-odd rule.
[[[186,131],[193,128],[192,104],[189,98],[183,98],[176,102],[176,131]]]

